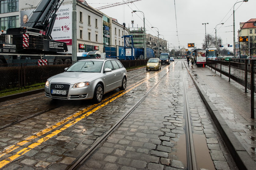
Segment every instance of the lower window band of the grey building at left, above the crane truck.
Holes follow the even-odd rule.
[[[1,30],[7,30],[8,28],[17,28],[19,25],[19,16],[3,17],[0,20]]]

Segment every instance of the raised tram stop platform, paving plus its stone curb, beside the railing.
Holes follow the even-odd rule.
[[[184,64],[234,161],[243,169],[254,169],[256,119],[251,118],[251,91],[245,93],[245,87],[207,66]]]

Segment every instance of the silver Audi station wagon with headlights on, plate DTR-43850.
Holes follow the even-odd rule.
[[[79,60],[63,73],[48,78],[45,96],[52,99],[88,100],[99,103],[103,94],[125,90],[126,69],[116,59]]]

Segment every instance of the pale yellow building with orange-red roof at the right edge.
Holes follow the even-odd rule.
[[[240,22],[238,36],[248,36],[248,42],[240,42],[240,52],[241,54],[246,54],[249,56],[249,48],[256,47],[256,19],[254,18],[247,22]],[[239,49],[237,49],[237,51],[239,51]],[[252,50],[251,55],[255,56],[256,50]]]

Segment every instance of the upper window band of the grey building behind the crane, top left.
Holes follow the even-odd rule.
[[[19,0],[4,0],[0,3],[0,10],[2,13],[19,11]]]

